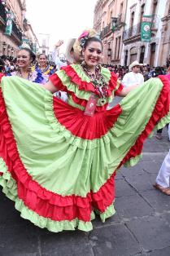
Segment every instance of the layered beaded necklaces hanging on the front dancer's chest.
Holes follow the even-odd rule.
[[[95,67],[95,73],[92,73],[85,63],[81,64],[85,74],[90,78],[90,81],[94,85],[95,90],[98,91],[100,97],[103,99],[107,98],[107,83],[104,81],[101,73],[101,67],[98,65]]]

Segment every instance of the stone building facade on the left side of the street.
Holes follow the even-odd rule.
[[[11,36],[6,35],[6,13],[11,11],[14,15],[12,21]],[[19,46],[23,38],[27,38],[30,46],[35,46],[37,38],[33,33],[30,24],[25,24],[26,2],[25,0],[6,0],[0,1],[0,56],[7,55],[15,57],[19,51]]]

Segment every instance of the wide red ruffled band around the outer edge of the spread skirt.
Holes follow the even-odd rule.
[[[170,85],[165,77],[161,76],[159,78],[163,82],[163,90],[159,95],[155,110],[150,117],[146,129],[138,137],[135,145],[129,150],[129,153],[124,157],[121,164],[129,160],[130,157],[137,157],[142,152],[144,140],[153,130],[155,124],[169,111]],[[8,171],[17,183],[18,196],[24,201],[24,205],[37,214],[56,221],[72,220],[74,218],[89,221],[91,207],[96,207],[101,212],[104,212],[115,198],[115,192],[113,192],[114,174],[111,175],[111,178],[107,180],[98,192],[90,192],[85,198],[74,195],[59,196],[47,191],[45,188],[41,188],[37,182],[33,181],[20,160],[5,104],[2,99],[2,92],[0,91],[0,93],[0,156],[6,162]]]

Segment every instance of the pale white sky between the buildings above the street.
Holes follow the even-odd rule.
[[[84,29],[93,28],[97,0],[26,0],[26,18],[36,33],[50,34],[50,50],[63,40],[65,51],[69,38],[77,38]]]

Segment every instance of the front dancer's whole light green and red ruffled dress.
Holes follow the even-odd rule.
[[[2,77],[0,87],[0,185],[23,218],[51,232],[92,229],[115,213],[116,170],[141,158],[144,140],[170,122],[170,86],[151,78],[114,108],[107,105],[123,86],[102,68],[107,98],[94,117],[85,105],[94,90],[76,64],[50,77],[68,103],[20,77]]]

